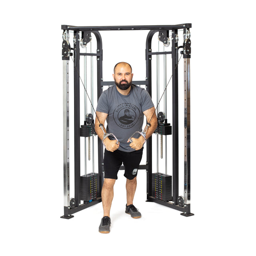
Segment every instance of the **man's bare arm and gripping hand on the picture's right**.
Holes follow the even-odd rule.
[[[154,133],[154,131],[156,130],[156,127],[157,127],[156,110],[154,107],[152,107],[152,108],[149,108],[148,110],[145,110],[143,112],[143,114],[146,116],[147,122],[150,122],[150,126],[148,127],[148,130],[146,131],[146,140],[147,140]],[[151,121],[150,121],[150,119],[151,119]],[[140,138],[138,138],[138,139],[132,138],[130,147],[132,147],[135,150],[139,150],[143,147],[144,141],[145,140],[142,136],[140,136]],[[129,140],[127,142],[129,142]]]

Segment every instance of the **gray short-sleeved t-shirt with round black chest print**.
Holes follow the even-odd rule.
[[[131,152],[134,149],[127,141],[134,132],[142,131],[143,112],[152,107],[154,104],[144,88],[132,84],[130,93],[122,95],[114,85],[101,94],[96,111],[108,114],[106,131],[114,134],[120,142],[118,150]],[[134,138],[139,137],[140,134],[134,134]]]

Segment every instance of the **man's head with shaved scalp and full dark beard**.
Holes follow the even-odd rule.
[[[120,90],[127,90],[132,84],[132,69],[129,65],[118,64],[115,69],[115,74],[113,78],[115,80],[116,86]]]

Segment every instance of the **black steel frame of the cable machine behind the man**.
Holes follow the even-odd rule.
[[[146,170],[147,172],[147,201],[156,202],[158,204],[173,208],[175,210],[183,212],[184,216],[191,216],[190,212],[190,203],[180,206],[178,203],[178,180],[179,180],[179,165],[178,165],[178,67],[176,64],[178,62],[178,42],[172,40],[172,51],[171,52],[152,52],[151,50],[151,41],[152,37],[157,32],[168,32],[172,30],[173,34],[178,34],[178,29],[183,29],[184,33],[186,29],[191,28],[190,23],[178,24],[178,25],[164,25],[164,26],[68,26],[62,25],[61,28],[63,31],[73,31],[76,36],[76,44],[74,48],[71,48],[71,51],[74,51],[74,172],[75,172],[75,202],[76,205],[74,208],[69,206],[64,206],[64,216],[61,218],[72,218],[72,214],[88,208],[94,204],[101,202],[101,197],[97,198],[90,203],[80,204],[80,56],[97,56],[97,97],[99,98],[103,92],[103,86],[112,85],[113,82],[104,82],[102,78],[102,39],[100,36],[101,30],[110,31],[110,30],[150,30],[146,38],[146,80],[144,81],[133,81],[134,84],[146,85],[146,90],[149,92],[150,96],[152,95],[152,64],[151,59],[152,55],[157,54],[171,54],[172,55],[172,202],[164,202],[152,197],[152,138],[147,140],[147,150],[146,150],[146,165],[140,165],[139,169]],[[80,53],[80,32],[91,32],[95,35],[97,40],[97,53]],[[180,47],[179,47],[180,48]],[[62,48],[63,49],[63,48]],[[63,52],[63,50],[62,50]],[[184,58],[190,58],[190,54],[185,55]],[[69,60],[69,55],[62,55],[62,60]],[[75,67],[76,66],[76,67]],[[189,186],[190,192],[190,158],[189,158],[189,170],[187,175],[189,176]],[[122,167],[121,167],[122,169]],[[98,139],[98,173],[100,177],[100,194],[101,188],[103,185],[103,175],[104,166],[103,166],[103,147],[102,141]],[[65,186],[65,182],[64,182]],[[65,189],[65,188],[64,188]],[[189,195],[190,196],[190,195]]]

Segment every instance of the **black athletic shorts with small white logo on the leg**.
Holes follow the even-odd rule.
[[[104,152],[104,178],[116,179],[117,173],[122,164],[124,164],[124,177],[133,180],[138,173],[143,148],[132,152],[115,150],[110,152],[105,149]]]

